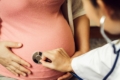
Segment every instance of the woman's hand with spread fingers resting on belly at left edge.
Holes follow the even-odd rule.
[[[16,76],[27,76],[31,72],[25,67],[30,67],[30,64],[10,51],[11,48],[20,48],[21,46],[22,44],[17,42],[0,42],[0,64]]]

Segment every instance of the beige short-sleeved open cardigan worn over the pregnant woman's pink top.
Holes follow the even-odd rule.
[[[82,0],[65,0],[62,5],[62,12],[74,34],[73,20],[77,17],[85,15]]]

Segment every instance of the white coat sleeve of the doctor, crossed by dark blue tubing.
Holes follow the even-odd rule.
[[[120,48],[120,44],[119,44]],[[72,60],[73,71],[85,80],[102,80],[110,71],[116,54],[110,44],[94,49]],[[120,59],[117,68],[108,80],[120,80]],[[115,79],[114,79],[115,78]]]

